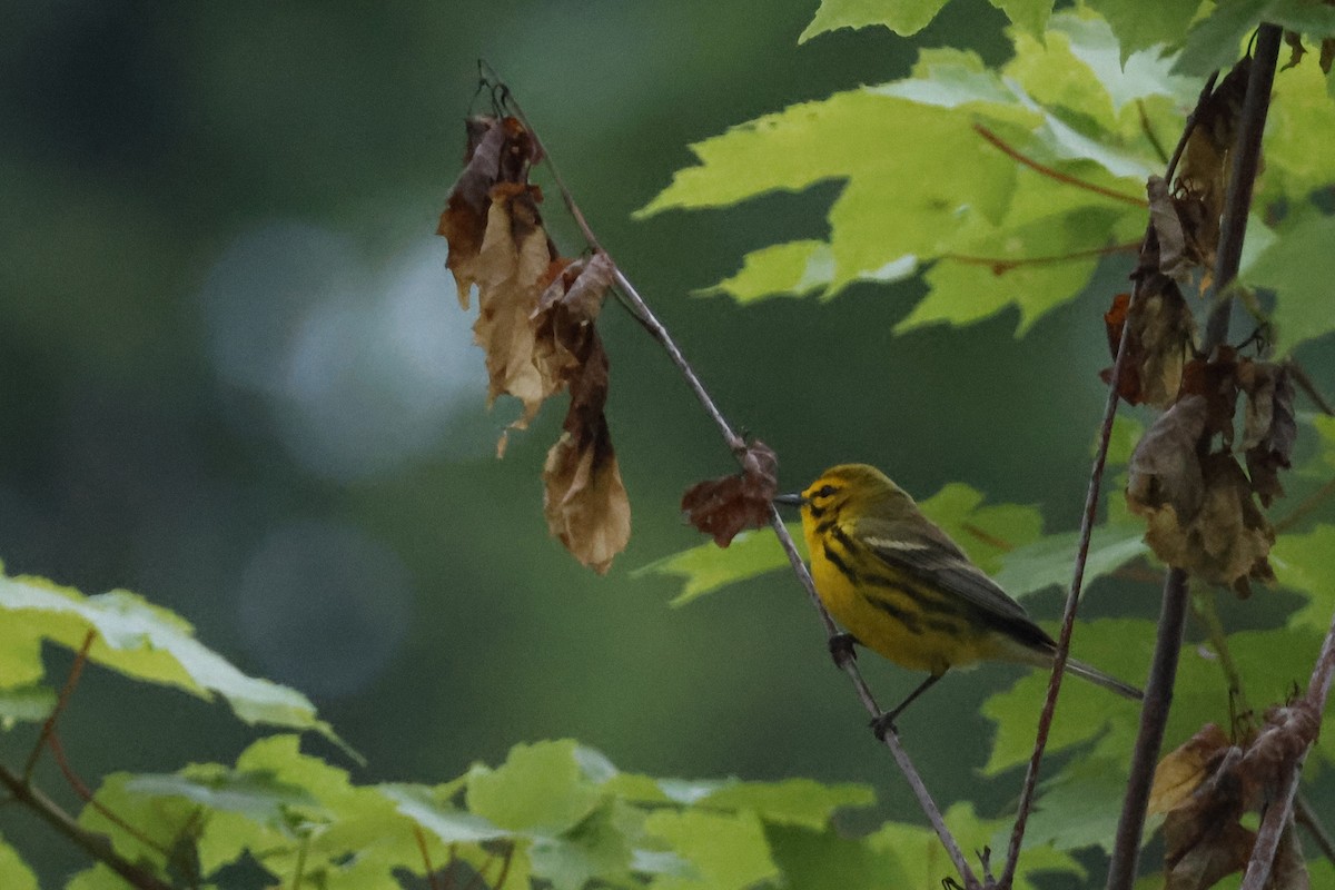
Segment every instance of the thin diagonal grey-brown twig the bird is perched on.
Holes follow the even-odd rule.
[[[523,115],[523,109],[515,100],[514,93],[506,91],[505,95],[506,95],[506,101],[513,108],[515,117],[518,117],[523,123],[525,128],[533,136],[535,144],[542,149],[542,155],[546,160],[547,168],[551,171],[551,177],[557,184],[557,191],[561,192],[561,197],[565,201],[566,208],[570,211],[570,215],[579,226],[579,231],[583,234],[585,239],[589,242],[589,246],[591,248],[601,251],[602,246],[598,242],[597,235],[594,234],[593,228],[585,219],[583,212],[581,212],[579,205],[575,203],[573,192],[566,187],[565,180],[561,177],[561,173],[551,159],[551,153],[546,151],[546,148],[542,145],[542,140],[539,139],[533,125],[529,123],[529,119]],[[626,274],[621,270],[619,266],[617,266],[617,274],[614,282],[617,284],[617,290],[621,292],[623,298],[622,302],[626,306],[627,311],[631,314],[633,318],[635,318],[635,320],[639,322],[639,324],[658,343],[658,346],[661,346],[663,351],[668,352],[668,356],[672,359],[672,363],[685,378],[686,383],[690,386],[692,392],[696,394],[696,398],[704,407],[705,414],[708,414],[709,418],[714,422],[714,426],[718,427],[718,431],[722,435],[728,448],[733,452],[733,456],[741,460],[746,454],[745,439],[742,439],[742,436],[740,436],[733,430],[732,424],[728,423],[728,419],[724,416],[722,411],[718,410],[718,406],[709,395],[709,391],[705,390],[705,386],[700,382],[700,376],[696,374],[694,368],[692,368],[690,363],[686,360],[686,356],[682,355],[681,350],[677,347],[677,343],[672,339],[672,335],[668,332],[668,328],[663,327],[662,322],[659,322],[658,318],[653,314],[653,311],[649,308],[649,304],[645,303],[643,298],[639,295],[639,291],[635,290],[634,284],[631,284],[630,279],[626,278]],[[788,527],[784,524],[784,520],[780,518],[777,510],[772,508],[770,514],[772,514],[770,527],[774,530],[774,534],[778,536],[780,544],[788,554],[789,562],[793,566],[793,572],[797,575],[797,579],[806,590],[808,598],[816,607],[821,624],[825,627],[826,639],[836,636],[838,628],[834,626],[834,620],[829,616],[829,612],[825,610],[824,603],[821,603],[820,598],[816,595],[816,586],[812,583],[810,572],[806,570],[806,564],[802,562],[801,555],[797,552],[797,546],[793,543],[792,535],[788,534]],[[872,717],[878,717],[881,714],[881,710],[877,707],[876,699],[872,697],[872,693],[868,689],[866,682],[862,679],[861,671],[858,671],[857,669],[857,663],[852,658],[849,658],[844,659],[840,667],[844,670],[845,674],[848,674],[849,679],[853,682],[853,687],[857,691],[858,698],[862,701],[864,707],[866,707],[868,713]],[[951,862],[960,873],[960,877],[964,878],[964,885],[967,890],[981,890],[983,885],[979,882],[977,877],[969,869],[968,861],[960,851],[960,845],[956,843],[955,837],[951,834],[951,830],[945,826],[945,819],[941,815],[940,807],[936,806],[936,802],[928,793],[926,786],[922,783],[922,777],[918,775],[917,769],[909,759],[908,753],[900,745],[898,737],[893,731],[888,731],[885,733],[882,741],[885,742],[885,746],[890,749],[890,754],[894,757],[894,762],[904,773],[904,777],[908,781],[909,787],[913,790],[914,797],[918,799],[918,805],[922,807],[924,814],[928,817],[928,821],[936,830],[936,834],[940,838],[941,845],[945,847],[947,855],[949,855]]]

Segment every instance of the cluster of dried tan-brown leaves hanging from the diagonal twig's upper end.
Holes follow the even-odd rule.
[[[551,534],[599,572],[630,539],[630,502],[607,432],[607,354],[595,320],[615,268],[605,254],[558,256],[542,227],[542,191],[529,183],[542,159],[515,117],[467,121],[465,168],[438,232],[450,244],[459,303],[478,287],[474,340],[486,351],[489,403],[513,395],[523,428],[546,399],[570,392],[561,439],[542,471]],[[497,446],[505,451],[506,436]]]

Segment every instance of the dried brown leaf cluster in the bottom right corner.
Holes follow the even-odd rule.
[[[1272,707],[1266,726],[1246,743],[1231,742],[1210,723],[1159,763],[1149,813],[1165,814],[1165,890],[1204,890],[1247,866],[1256,833],[1242,823],[1243,817],[1264,810],[1280,794],[1319,729],[1320,710],[1304,698]],[[1267,886],[1308,887],[1292,823]]]

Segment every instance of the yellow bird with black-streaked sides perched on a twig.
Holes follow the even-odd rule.
[[[802,494],[774,502],[801,507],[812,579],[834,620],[854,642],[929,674],[877,718],[878,734],[952,667],[980,660],[1052,667],[1052,636],[876,467],[830,467]],[[1067,671],[1143,698],[1136,687],[1075,659],[1067,660]]]

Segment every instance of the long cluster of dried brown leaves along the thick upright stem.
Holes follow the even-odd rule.
[[[1288,371],[1220,347],[1200,355],[1183,286],[1204,291],[1219,246],[1230,153],[1250,60],[1240,61],[1197,112],[1175,187],[1151,177],[1149,230],[1125,294],[1104,316],[1113,351],[1127,336],[1116,382],[1132,404],[1165,408],[1131,459],[1127,500],[1147,522],[1145,542],[1193,576],[1251,591],[1274,576],[1275,532],[1258,506],[1283,495],[1279,470],[1296,438]],[[1104,372],[1111,380],[1111,371]],[[1242,448],[1234,455],[1239,395],[1246,396]]]

